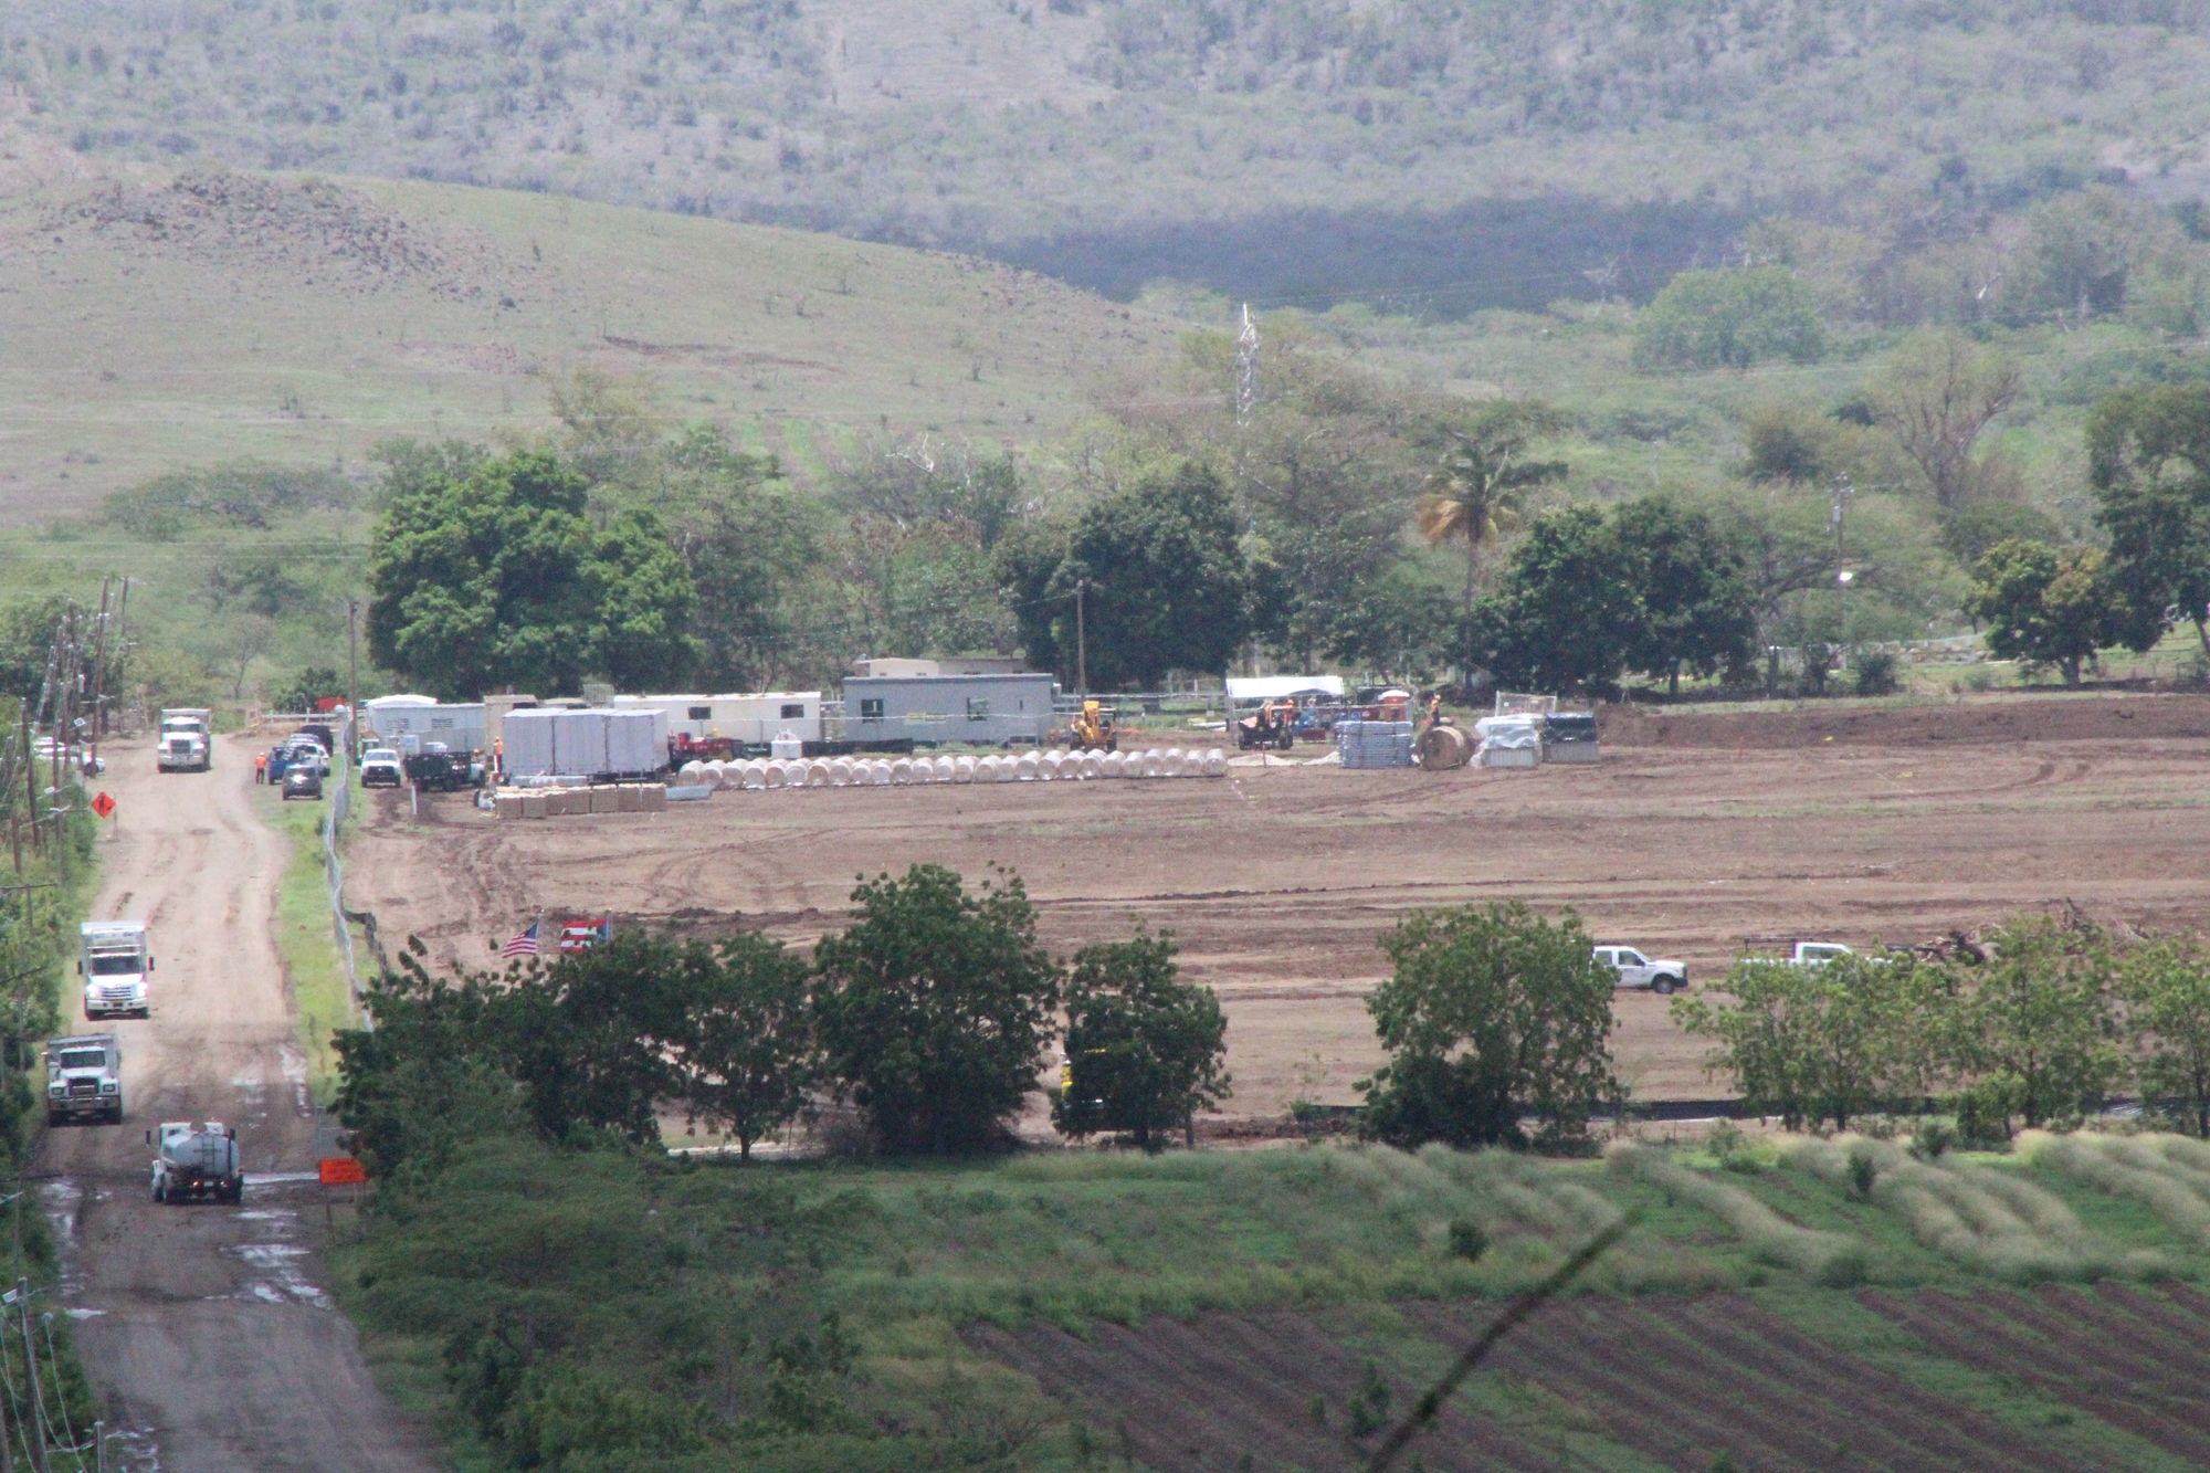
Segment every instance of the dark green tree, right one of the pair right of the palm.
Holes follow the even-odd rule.
[[[1682,668],[1717,675],[1753,664],[1748,562],[1713,518],[1669,495],[1644,495],[1613,509],[1611,537],[1638,604],[1629,670],[1664,675],[1677,692]]]

